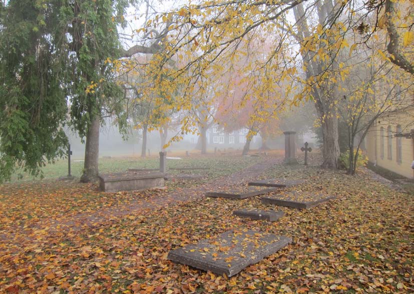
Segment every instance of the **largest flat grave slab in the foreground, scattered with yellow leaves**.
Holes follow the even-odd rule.
[[[234,229],[197,244],[171,250],[168,259],[216,274],[233,276],[292,241],[286,236],[248,229]]]

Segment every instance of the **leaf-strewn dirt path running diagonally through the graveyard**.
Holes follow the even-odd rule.
[[[255,163],[241,171],[218,179],[210,180],[202,185],[191,188],[177,189],[164,196],[154,195],[149,198],[138,200],[136,203],[128,205],[118,205],[110,208],[101,209],[91,213],[79,213],[69,217],[64,221],[52,221],[44,227],[41,223],[33,227],[26,227],[21,235],[27,238],[38,238],[38,234],[47,233],[62,234],[62,232],[76,233],[87,228],[96,228],[108,225],[126,215],[144,213],[148,209],[157,209],[171,204],[193,201],[204,197],[206,191],[217,188],[218,186],[228,186],[229,183],[241,184],[260,176],[264,171],[271,168],[274,164],[280,163],[280,158],[266,157],[264,161]],[[19,229],[19,228],[16,228]],[[0,235],[0,240],[13,239],[10,235]]]

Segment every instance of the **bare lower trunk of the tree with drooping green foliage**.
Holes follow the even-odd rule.
[[[95,182],[98,179],[100,127],[100,118],[95,116],[86,134],[84,173],[81,177],[81,182],[83,183]]]

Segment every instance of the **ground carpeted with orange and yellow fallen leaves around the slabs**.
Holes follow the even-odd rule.
[[[218,157],[217,162],[221,159]],[[208,164],[212,159],[197,160]],[[232,166],[240,169],[254,163],[244,160],[228,157],[225,166],[231,172]],[[264,205],[260,196],[245,200],[194,198],[193,194],[206,189],[194,189],[203,184],[200,182],[181,187],[182,181],[167,190],[141,193],[100,193],[95,185],[57,181],[3,185],[0,292],[414,291],[412,196],[371,181],[362,173],[351,177],[316,166],[276,164],[256,178],[280,177],[306,179],[288,190],[318,191],[335,195],[336,199],[309,210],[296,210]],[[234,181],[234,177],[228,179]],[[220,178],[221,182],[225,180]],[[157,197],[178,195],[180,191],[180,200],[186,196],[194,200],[106,215],[107,221],[96,225],[76,223],[80,221],[78,214],[138,207],[131,205],[146,199],[156,202]],[[240,208],[275,208],[285,215],[273,223],[233,216],[232,211]],[[60,222],[66,225],[59,227]],[[293,243],[231,278],[166,259],[170,249],[233,228],[287,235]]]

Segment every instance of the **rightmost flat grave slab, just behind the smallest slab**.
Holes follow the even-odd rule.
[[[265,204],[274,204],[297,209],[309,209],[319,203],[335,198],[335,196],[328,196],[317,192],[286,191],[277,195],[262,197],[261,201]]]

